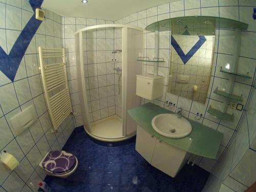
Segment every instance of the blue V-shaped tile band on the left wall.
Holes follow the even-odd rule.
[[[30,0],[29,3],[34,11],[33,16],[30,18],[23,31],[19,34],[15,41],[9,55],[0,47],[0,70],[13,81],[17,73],[20,61],[30,44],[34,34],[41,24],[40,20],[35,18],[35,9],[40,8],[44,0]]]

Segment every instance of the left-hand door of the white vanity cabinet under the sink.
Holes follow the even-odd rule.
[[[156,138],[138,125],[135,149],[149,163],[152,160],[155,144]]]

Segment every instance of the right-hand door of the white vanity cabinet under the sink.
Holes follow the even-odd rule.
[[[185,163],[186,152],[161,140],[156,140],[152,165],[171,177],[175,177]]]

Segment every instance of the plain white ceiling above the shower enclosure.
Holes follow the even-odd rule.
[[[124,16],[178,0],[44,0],[42,7],[61,16],[117,20]]]

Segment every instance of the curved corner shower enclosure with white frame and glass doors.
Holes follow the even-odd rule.
[[[137,57],[143,53],[143,29],[97,25],[75,33],[79,99],[84,130],[102,141],[120,141],[136,134],[127,110],[140,105],[135,95]]]

